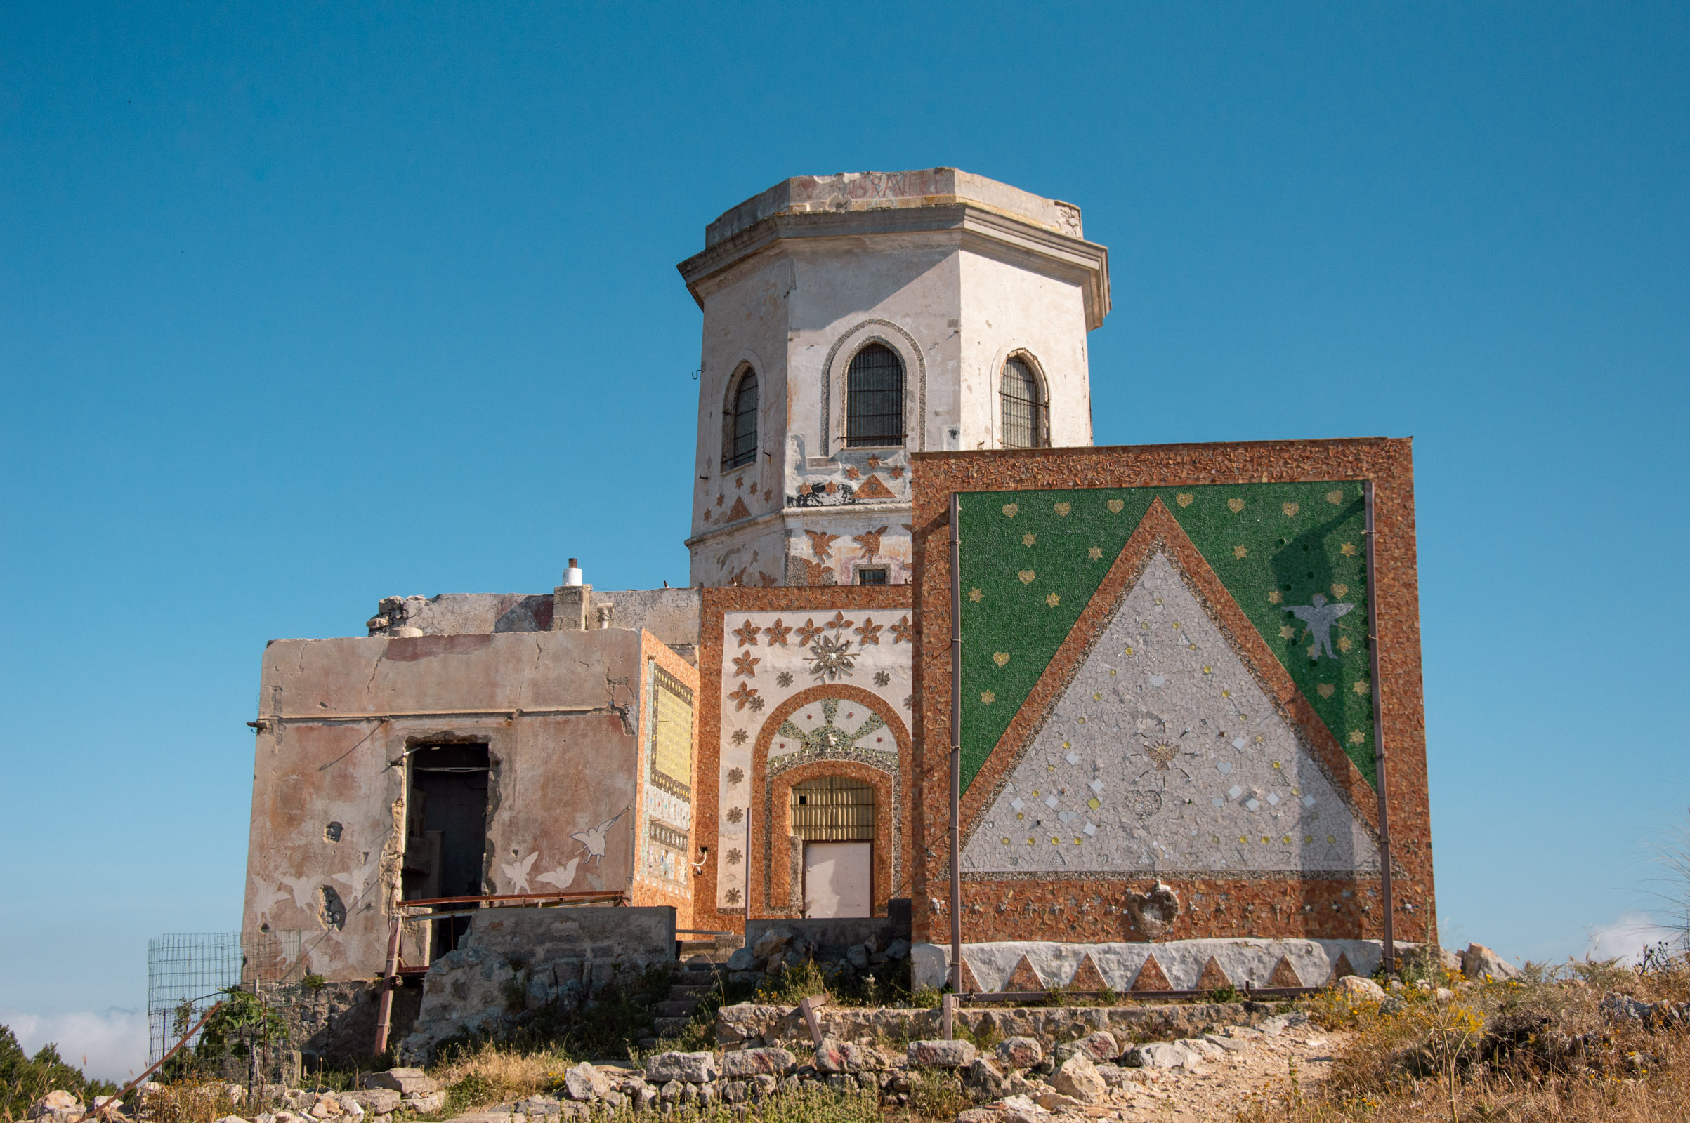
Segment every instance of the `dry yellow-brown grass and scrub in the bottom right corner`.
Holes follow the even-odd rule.
[[[1431,979],[1450,983],[1453,979]],[[1384,1006],[1325,991],[1310,1015],[1344,1030],[1332,1076],[1239,1111],[1242,1123],[1682,1123],[1690,1120],[1690,1030],[1612,1020],[1606,993],[1690,1000],[1690,964],[1531,968],[1513,983]]]

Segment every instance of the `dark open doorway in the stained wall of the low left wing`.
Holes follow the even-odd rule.
[[[411,792],[406,802],[407,900],[480,897],[487,863],[485,745],[424,745],[411,751]],[[431,925],[429,959],[458,946],[470,917]]]

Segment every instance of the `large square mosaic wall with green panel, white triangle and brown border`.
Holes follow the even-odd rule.
[[[948,930],[950,491],[967,939],[1376,934],[1381,694],[1398,937],[1431,922],[1406,441],[930,454],[914,476],[918,929]]]

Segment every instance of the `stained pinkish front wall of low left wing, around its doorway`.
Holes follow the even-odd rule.
[[[441,741],[488,748],[482,892],[627,890],[647,642],[625,628],[272,642],[243,930],[299,930],[301,969],[328,979],[379,973],[406,751]]]

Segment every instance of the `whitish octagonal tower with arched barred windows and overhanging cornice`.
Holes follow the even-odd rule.
[[[691,583],[904,584],[909,454],[1085,446],[1109,252],[955,167],[786,179],[678,267],[705,312]]]

